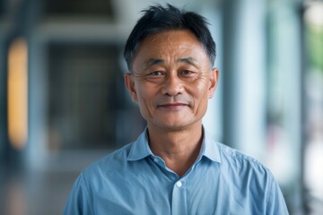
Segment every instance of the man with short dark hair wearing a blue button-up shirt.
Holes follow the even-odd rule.
[[[144,11],[124,56],[147,127],[81,173],[65,214],[288,214],[270,171],[203,128],[219,76],[206,25],[170,4]]]

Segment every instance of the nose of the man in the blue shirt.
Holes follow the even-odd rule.
[[[184,90],[183,82],[180,80],[177,73],[169,73],[165,78],[162,86],[162,94],[167,96],[176,96],[182,94]]]

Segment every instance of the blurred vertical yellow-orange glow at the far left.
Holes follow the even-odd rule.
[[[28,136],[27,44],[13,40],[8,53],[8,135],[14,149],[21,150]]]

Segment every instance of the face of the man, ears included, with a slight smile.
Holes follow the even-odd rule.
[[[179,130],[201,125],[218,70],[188,30],[170,30],[141,43],[125,82],[148,127]]]

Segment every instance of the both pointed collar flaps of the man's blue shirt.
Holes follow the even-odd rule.
[[[211,159],[214,162],[221,163],[218,144],[214,142],[214,140],[212,139],[212,136],[205,131],[205,128],[203,128],[203,131],[204,131],[203,132],[204,137],[203,137],[202,146],[201,146],[198,159],[204,156],[205,158]],[[153,156],[153,152],[149,147],[147,128],[145,128],[144,132],[141,133],[137,138],[137,140],[133,143],[127,159],[134,161],[134,160],[144,159],[148,156]]]

